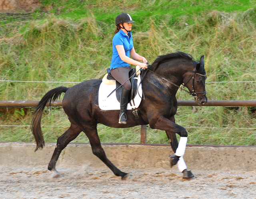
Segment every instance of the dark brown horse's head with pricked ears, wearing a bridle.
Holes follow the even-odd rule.
[[[199,105],[207,103],[205,81],[206,72],[204,70],[204,56],[200,58],[200,63],[194,62],[196,66],[193,71],[188,71],[183,76],[184,86],[188,88],[195,102]]]

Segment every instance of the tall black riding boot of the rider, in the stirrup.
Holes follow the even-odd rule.
[[[126,124],[126,109],[128,104],[128,98],[130,95],[130,90],[127,90],[124,86],[122,86],[122,93],[120,98],[120,115],[119,122],[120,124]]]

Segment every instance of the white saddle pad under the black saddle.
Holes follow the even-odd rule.
[[[138,76],[138,93],[134,98],[135,106],[133,108],[138,108],[142,97],[142,87],[140,84],[140,75]],[[103,82],[100,84],[99,88],[99,107],[102,110],[120,110],[120,103],[116,99],[116,92],[113,92],[109,97],[108,95],[116,89],[116,85],[106,85]],[[107,98],[108,97],[108,98]],[[132,103],[133,105],[133,103]],[[128,103],[127,110],[132,109],[130,103]]]

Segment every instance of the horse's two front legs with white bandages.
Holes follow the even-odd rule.
[[[166,135],[174,151],[174,155],[170,155],[171,167],[178,164],[178,170],[183,173],[183,178],[194,177],[191,171],[187,170],[186,163],[183,159],[186,150],[186,143],[188,140],[188,133],[186,129],[175,123],[174,117],[170,120],[165,117],[158,118],[156,123],[150,125],[152,128],[165,130]],[[180,141],[178,143],[176,133],[180,135]]]

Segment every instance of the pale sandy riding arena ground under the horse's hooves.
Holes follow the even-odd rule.
[[[182,179],[177,169],[120,168],[132,175],[122,181],[109,169],[57,168],[53,179],[45,167],[0,167],[1,199],[256,199],[256,172],[192,171]]]

